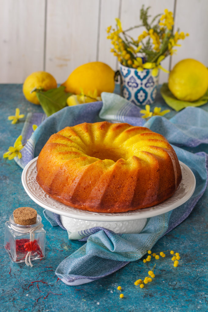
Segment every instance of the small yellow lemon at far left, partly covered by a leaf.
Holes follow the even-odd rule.
[[[29,102],[40,104],[36,97],[36,92],[31,93],[34,88],[40,88],[47,91],[49,89],[57,88],[57,83],[55,78],[46,71],[35,71],[25,79],[22,89],[24,96]]]

